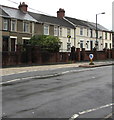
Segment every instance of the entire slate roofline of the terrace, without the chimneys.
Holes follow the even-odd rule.
[[[28,20],[28,21],[41,22],[41,23],[50,23],[53,25],[65,26],[68,28],[75,28],[74,25],[76,25],[76,26],[87,27],[89,29],[94,29],[94,30],[96,29],[96,24],[93,22],[79,20],[79,19],[71,18],[71,17],[65,17],[65,19],[70,21],[68,22],[65,19],[57,18],[54,16],[48,16],[48,15],[33,13],[33,12],[23,13],[19,9],[7,7],[3,5],[0,5],[0,15],[5,16],[5,17],[10,17],[10,18],[15,18],[15,19],[21,19],[21,20]],[[74,25],[71,23],[73,23]],[[106,29],[100,24],[98,24],[97,27],[98,27],[98,30],[109,31],[108,29]]]

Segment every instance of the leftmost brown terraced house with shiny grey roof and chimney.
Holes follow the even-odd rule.
[[[33,24],[27,5],[22,3],[19,9],[1,6],[2,9],[2,51],[15,51],[16,44],[24,44],[33,35]]]

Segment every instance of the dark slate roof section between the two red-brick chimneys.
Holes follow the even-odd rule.
[[[60,19],[60,18],[57,18],[57,17],[48,16],[48,15],[43,15],[43,14],[38,14],[38,13],[33,13],[33,12],[29,12],[29,14],[39,22],[51,23],[51,24],[54,24],[54,25],[65,26],[65,27],[69,27],[69,28],[75,28],[72,24],[70,24],[69,22],[67,22],[64,19]]]

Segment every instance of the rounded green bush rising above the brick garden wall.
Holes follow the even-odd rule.
[[[60,39],[49,35],[35,35],[30,39],[31,45],[37,45],[42,50],[58,52],[60,48]]]

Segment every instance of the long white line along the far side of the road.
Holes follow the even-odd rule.
[[[105,67],[109,67],[109,66],[105,66]],[[86,69],[81,69],[81,70],[69,70],[69,71],[64,71],[64,72],[61,72],[61,73],[55,73],[55,74],[44,75],[44,76],[24,77],[24,78],[9,80],[9,81],[6,81],[6,82],[1,82],[0,85],[7,84],[7,83],[12,83],[12,82],[16,82],[16,81],[20,81],[20,80],[28,80],[28,79],[34,79],[34,78],[55,77],[55,76],[58,76],[58,75],[64,75],[64,74],[71,73],[71,72],[84,72],[84,71],[90,71],[90,70],[95,70],[95,69],[98,69],[98,68],[101,69],[102,67],[97,67],[97,68],[86,68]]]

